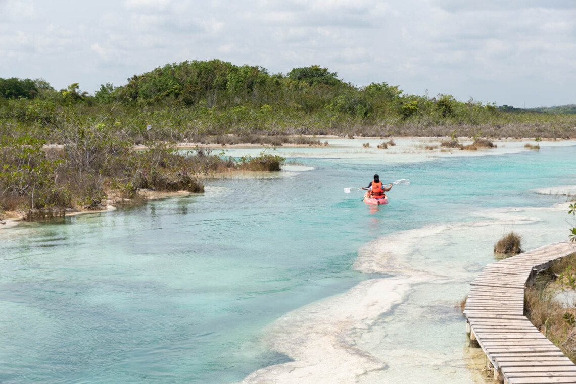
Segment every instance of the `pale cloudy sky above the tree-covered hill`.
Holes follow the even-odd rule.
[[[185,60],[521,108],[576,104],[576,0],[0,0],[0,78],[126,85]]]

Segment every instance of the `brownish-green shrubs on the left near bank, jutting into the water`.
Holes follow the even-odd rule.
[[[100,210],[105,201],[134,199],[138,190],[203,192],[198,176],[221,170],[280,170],[285,159],[261,155],[236,162],[196,148],[146,141],[135,151],[102,127],[77,128],[61,147],[31,136],[0,137],[0,213],[21,211],[35,220],[64,216],[67,210]],[[70,136],[74,136],[70,139]]]

